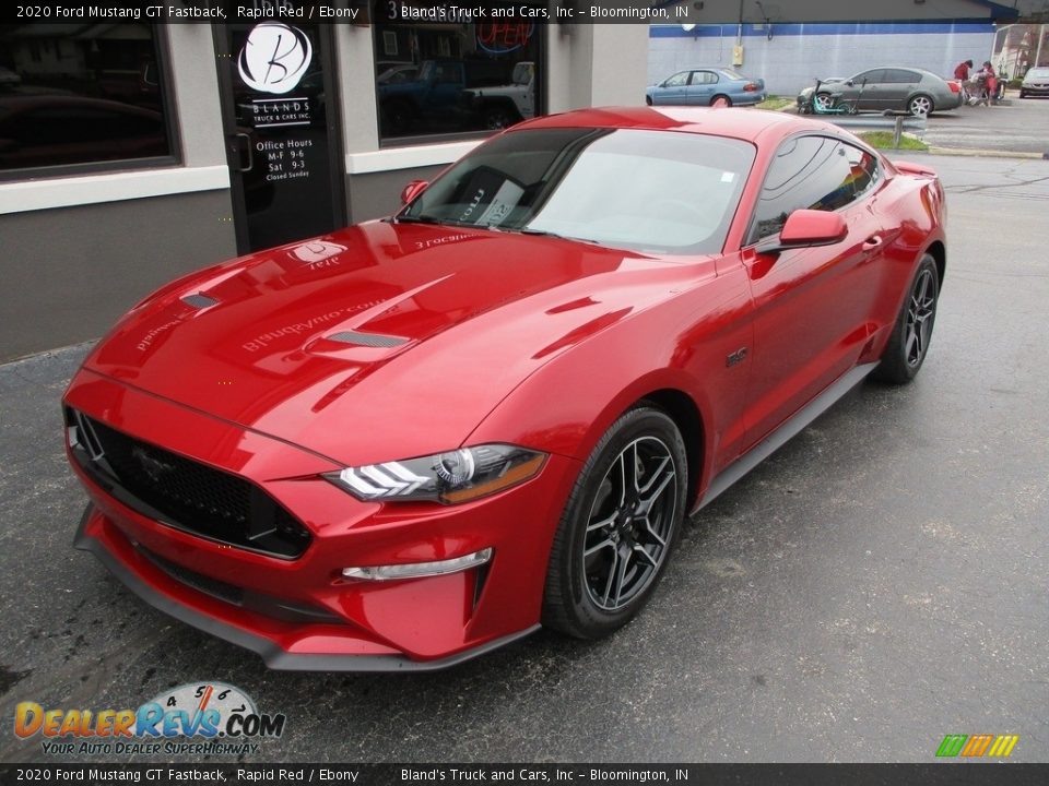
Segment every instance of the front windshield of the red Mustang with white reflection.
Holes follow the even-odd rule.
[[[478,147],[398,221],[717,253],[753,159],[751,144],[719,136],[524,129]]]

